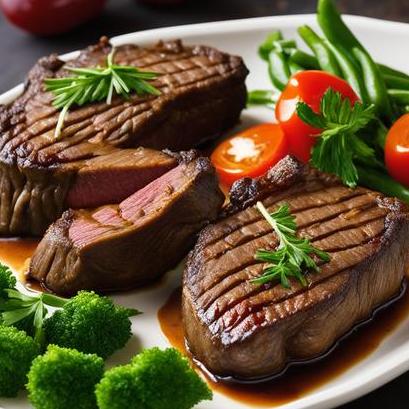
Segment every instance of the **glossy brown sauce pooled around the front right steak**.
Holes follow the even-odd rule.
[[[299,399],[333,380],[370,355],[382,341],[409,315],[409,291],[378,311],[376,318],[343,340],[335,351],[315,363],[290,367],[275,380],[259,384],[216,382],[204,373],[214,391],[251,406],[273,407]],[[159,310],[162,332],[177,349],[188,354],[184,344],[181,311],[181,289],[176,289]]]

